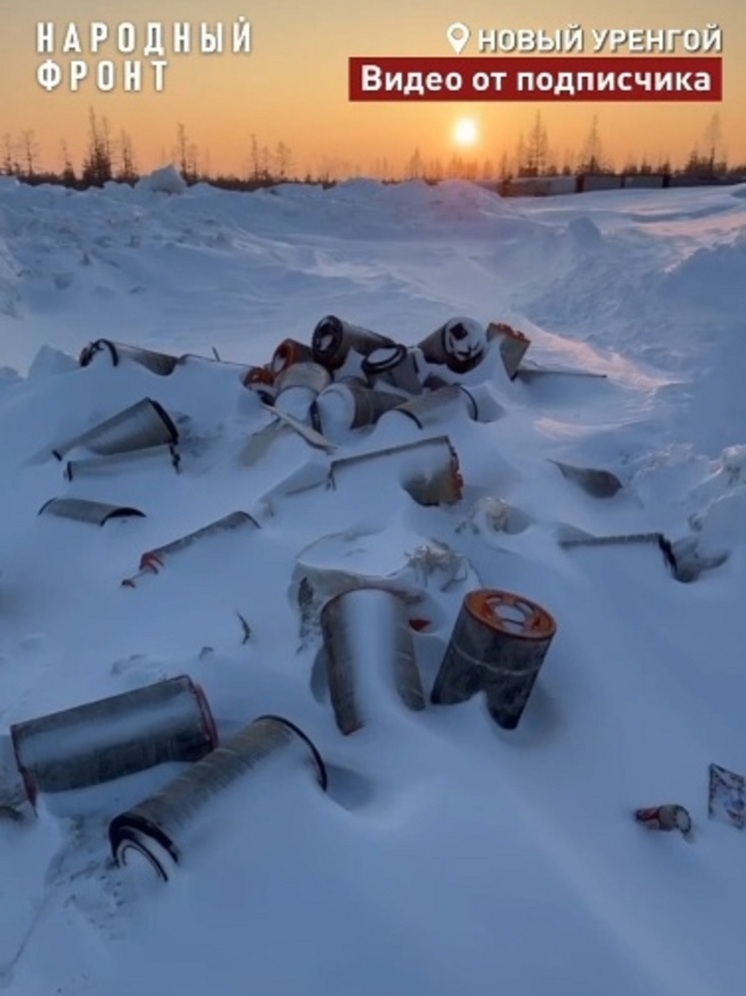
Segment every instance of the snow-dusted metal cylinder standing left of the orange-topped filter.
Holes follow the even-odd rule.
[[[321,610],[324,660],[337,726],[364,726],[396,694],[411,710],[425,708],[412,629],[403,600],[380,588],[336,595]]]

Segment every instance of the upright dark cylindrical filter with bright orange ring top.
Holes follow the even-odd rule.
[[[515,729],[555,630],[549,613],[521,595],[490,589],[469,592],[431,701],[452,705],[483,691],[495,722]]]

